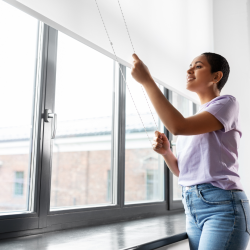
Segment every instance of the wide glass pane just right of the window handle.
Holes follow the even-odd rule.
[[[112,202],[112,91],[113,60],[59,32],[51,209]]]

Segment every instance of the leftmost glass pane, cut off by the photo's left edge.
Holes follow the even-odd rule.
[[[0,213],[32,210],[38,22],[0,1]]]

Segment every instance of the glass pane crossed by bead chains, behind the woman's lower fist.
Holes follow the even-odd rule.
[[[127,69],[127,83],[136,107],[140,113],[147,134],[126,89],[126,151],[125,151],[125,203],[159,201],[164,197],[164,160],[154,152],[152,142],[154,131],[163,130],[163,125],[154,110],[146,92],[145,99],[141,85]],[[151,115],[148,104],[153,113]],[[155,122],[154,122],[155,120]],[[149,137],[149,138],[148,138]]]

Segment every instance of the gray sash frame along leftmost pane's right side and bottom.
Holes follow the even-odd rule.
[[[35,88],[34,93],[39,95],[39,98],[37,99],[37,106],[33,106],[33,115],[34,109],[37,109],[36,116],[42,117],[42,106],[44,102],[44,90],[45,85],[43,84],[45,80],[45,60],[47,57],[47,31],[48,27],[45,27],[43,23],[38,21],[38,33],[37,33],[37,57],[36,57],[36,71],[35,71]],[[35,96],[34,96],[35,100]],[[37,122],[37,123],[36,123]],[[34,137],[34,134],[32,134],[31,141],[33,144],[33,152],[36,152],[35,159],[30,159],[30,161],[33,161],[33,168],[34,168],[34,176],[32,177],[34,183],[33,186],[33,195],[34,200],[31,200],[31,197],[29,197],[29,203],[33,203],[32,212],[9,212],[4,213],[0,215],[0,239],[5,239],[9,237],[17,237],[20,235],[20,232],[30,231],[30,230],[36,230],[38,228],[39,224],[39,210],[40,210],[40,176],[41,176],[41,152],[42,152],[42,144],[43,144],[43,126],[41,121],[33,120],[33,126],[36,123],[36,132],[37,135]],[[31,149],[30,149],[31,150]],[[33,197],[32,197],[33,198]]]

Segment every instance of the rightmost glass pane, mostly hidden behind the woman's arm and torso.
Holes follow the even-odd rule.
[[[184,117],[193,115],[194,107],[193,102],[187,98],[175,93],[172,93],[172,104],[173,106],[181,112]],[[178,136],[172,135],[172,144],[175,145]],[[173,153],[176,156],[176,147],[173,146]],[[178,177],[173,175],[173,200],[181,200],[181,186],[178,185]]]

